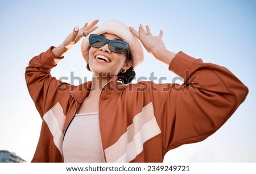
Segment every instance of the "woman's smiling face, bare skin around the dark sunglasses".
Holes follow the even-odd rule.
[[[106,39],[114,40],[119,39],[117,35],[112,35],[105,33]],[[90,47],[89,49],[89,67],[93,73],[100,74],[104,76],[117,76],[119,72],[123,69],[129,69],[132,65],[131,60],[126,58],[127,51],[123,53],[115,53],[109,50],[109,44],[106,43],[101,48]],[[102,60],[105,59],[105,60]]]

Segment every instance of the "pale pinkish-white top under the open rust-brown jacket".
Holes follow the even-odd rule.
[[[103,163],[98,113],[76,114],[63,141],[64,163]]]

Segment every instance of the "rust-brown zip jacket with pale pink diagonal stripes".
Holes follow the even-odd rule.
[[[65,131],[90,91],[91,81],[74,86],[51,76],[57,59],[51,49],[33,57],[26,68],[28,90],[42,117],[32,162],[63,162]],[[248,93],[228,69],[183,52],[169,70],[184,83],[124,86],[113,77],[102,89],[99,118],[107,162],[162,162],[169,150],[200,142],[218,130]]]

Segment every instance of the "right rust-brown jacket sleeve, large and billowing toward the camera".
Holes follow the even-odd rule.
[[[228,69],[203,63],[183,52],[177,53],[169,70],[183,77],[184,83],[158,85],[158,92],[151,93],[155,113],[162,117],[158,122],[167,151],[213,134],[248,93]]]

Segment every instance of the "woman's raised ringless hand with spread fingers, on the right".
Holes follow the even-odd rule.
[[[150,31],[150,27],[146,25],[146,30],[139,24],[139,31],[137,32],[133,27],[129,27],[130,31],[139,39],[143,44],[144,48],[155,57],[165,64],[170,64],[174,58],[175,53],[170,52],[166,49],[163,38],[163,30],[160,30],[159,36],[153,36]]]

